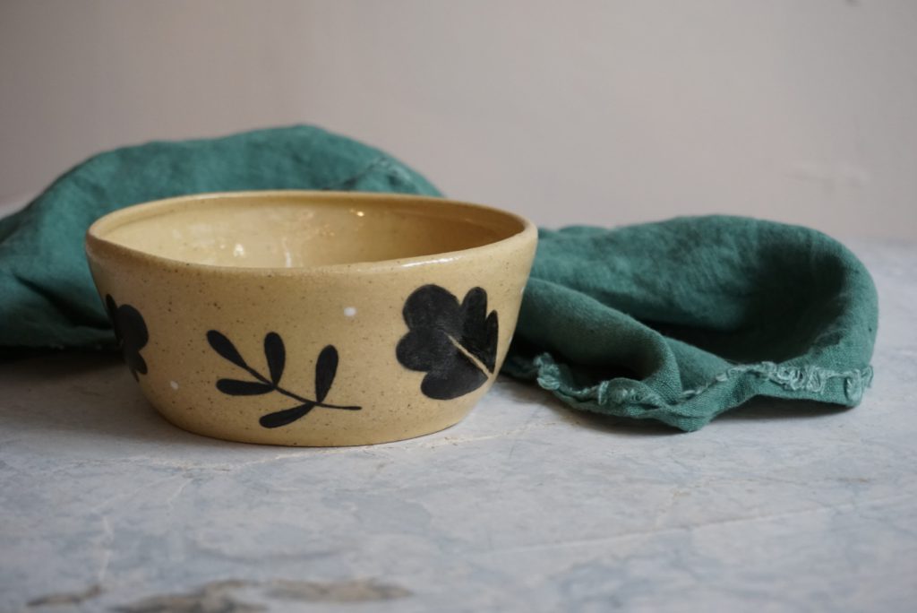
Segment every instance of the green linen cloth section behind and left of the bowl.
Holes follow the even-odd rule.
[[[309,126],[102,153],[0,220],[0,347],[113,346],[83,252],[86,229],[139,202],[252,189],[439,195],[380,150]]]

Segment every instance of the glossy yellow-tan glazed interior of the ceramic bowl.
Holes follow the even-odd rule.
[[[525,221],[512,214],[437,198],[265,192],[130,207],[104,217],[90,233],[182,262],[293,268],[462,251],[524,229]]]

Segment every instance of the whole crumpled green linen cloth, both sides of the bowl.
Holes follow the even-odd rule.
[[[83,255],[98,217],[171,195],[335,189],[438,195],[319,128],[114,150],[0,220],[0,348],[114,348]],[[745,217],[542,230],[503,373],[572,407],[683,430],[754,396],[856,405],[878,302],[838,242]]]

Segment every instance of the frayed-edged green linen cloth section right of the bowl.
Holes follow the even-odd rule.
[[[856,406],[878,298],[837,241],[746,217],[542,230],[503,372],[696,430],[755,396]]]

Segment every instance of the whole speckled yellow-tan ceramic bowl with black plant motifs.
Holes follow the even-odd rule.
[[[536,248],[521,217],[407,195],[130,206],[86,237],[143,394],[227,440],[361,445],[457,423],[492,385]]]

